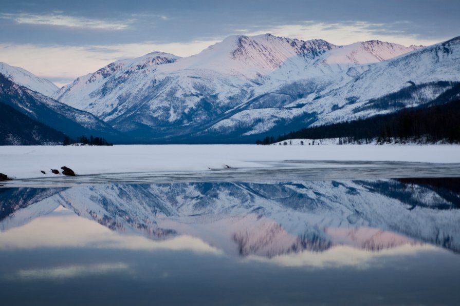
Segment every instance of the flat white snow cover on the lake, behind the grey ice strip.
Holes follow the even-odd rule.
[[[408,161],[460,163],[457,145],[126,145],[3,146],[0,172],[11,178],[54,177],[50,169],[66,166],[77,175],[210,171],[231,168],[267,168],[272,162]],[[297,165],[297,166],[296,166]],[[308,167],[300,164],[291,167]],[[41,171],[46,174],[42,174]]]

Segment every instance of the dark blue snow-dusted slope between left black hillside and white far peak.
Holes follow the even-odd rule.
[[[38,92],[13,83],[0,73],[0,101],[16,111],[71,137],[83,134],[100,135],[109,139],[119,132],[90,113],[59,103]],[[16,127],[21,129],[21,127]]]

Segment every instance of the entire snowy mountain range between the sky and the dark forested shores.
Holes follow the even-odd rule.
[[[65,134],[131,143],[252,143],[429,105],[460,82],[459,45],[460,37],[404,47],[235,35],[189,57],[152,52],[118,60],[60,89],[1,64],[0,101]],[[51,125],[55,120],[36,105],[72,127]]]

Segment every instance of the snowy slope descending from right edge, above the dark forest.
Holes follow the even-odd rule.
[[[326,78],[288,83],[282,90],[254,98],[246,109],[219,121],[207,132],[226,134],[239,129],[239,135],[270,130],[272,135],[282,134],[311,124],[319,126],[428,104],[460,81],[459,57],[460,39],[455,38],[380,63],[349,67]],[[411,97],[401,103],[389,103],[388,107],[378,107],[379,98],[411,86],[414,87]],[[286,98],[289,91],[294,95]],[[277,98],[283,104],[273,107],[265,102]]]

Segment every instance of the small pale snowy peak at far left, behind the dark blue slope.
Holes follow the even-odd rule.
[[[45,78],[38,77],[29,71],[10,66],[0,62],[0,73],[12,80],[14,83],[24,86],[46,96],[51,96],[59,88]]]

